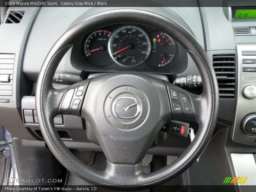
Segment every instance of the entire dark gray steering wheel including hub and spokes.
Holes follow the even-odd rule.
[[[125,14],[124,14],[125,13]],[[106,73],[68,88],[54,89],[55,70],[77,37],[113,23],[141,23],[172,36],[190,54],[201,74],[203,92],[195,95],[169,82],[141,73]],[[217,120],[219,92],[216,76],[204,48],[185,28],[162,15],[135,9],[116,9],[86,18],[53,45],[41,68],[36,88],[36,111],[44,140],[70,172],[89,183],[127,186],[159,185],[188,169],[208,144]],[[178,100],[170,96],[177,91]],[[190,112],[174,111],[173,103],[187,97]],[[76,105],[73,105],[76,100]],[[123,100],[121,102],[121,100]],[[75,107],[74,107],[75,106]],[[53,119],[76,115],[86,120],[107,157],[107,169],[97,171],[82,163],[65,146]],[[144,174],[142,159],[162,127],[171,120],[193,119],[199,126],[195,139],[171,164]],[[129,187],[129,189],[130,189]]]

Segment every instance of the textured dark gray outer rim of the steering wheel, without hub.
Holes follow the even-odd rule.
[[[125,13],[125,14],[124,14]],[[58,115],[59,106],[65,89],[52,87],[55,70],[76,37],[113,23],[141,23],[155,27],[172,36],[190,54],[200,72],[203,82],[201,95],[189,96],[195,111],[195,121],[199,125],[195,139],[177,160],[164,168],[149,174],[140,172],[141,163],[136,165],[113,164],[107,162],[107,170],[99,172],[82,163],[65,146],[58,135],[53,118]],[[170,180],[183,171],[202,153],[212,136],[219,109],[219,91],[217,79],[204,48],[185,28],[162,15],[139,9],[116,9],[86,18],[65,32],[53,45],[44,60],[36,87],[37,118],[44,140],[53,155],[70,172],[89,183],[111,185],[114,188],[124,186],[158,185]],[[131,174],[133,173],[133,174]]]

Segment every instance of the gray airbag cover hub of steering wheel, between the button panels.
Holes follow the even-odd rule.
[[[100,144],[112,163],[139,163],[171,109],[163,80],[140,73],[94,77],[82,107],[87,138]]]

